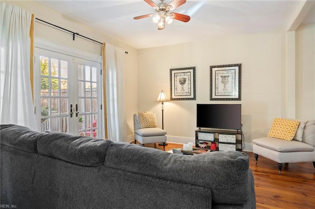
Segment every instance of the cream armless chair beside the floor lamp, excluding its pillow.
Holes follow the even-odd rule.
[[[163,149],[165,150],[166,131],[163,129],[158,127],[141,128],[138,114],[133,114],[133,129],[134,143],[138,141],[143,146],[145,144],[162,143]]]

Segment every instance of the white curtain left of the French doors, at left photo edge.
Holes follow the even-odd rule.
[[[36,130],[30,81],[32,13],[0,4],[0,123]]]

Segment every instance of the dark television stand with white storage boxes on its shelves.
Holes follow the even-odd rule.
[[[243,150],[243,132],[242,130],[228,130],[215,128],[198,128],[195,130],[195,146],[198,142],[207,142],[208,146],[204,149],[210,149],[211,143],[217,144],[217,151]]]

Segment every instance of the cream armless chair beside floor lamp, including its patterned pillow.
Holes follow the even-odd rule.
[[[166,131],[157,127],[154,112],[140,112],[133,114],[134,143],[141,145],[162,143],[165,150]]]

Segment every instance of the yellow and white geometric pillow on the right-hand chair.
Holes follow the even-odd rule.
[[[300,121],[275,118],[267,137],[291,141],[296,133]]]

